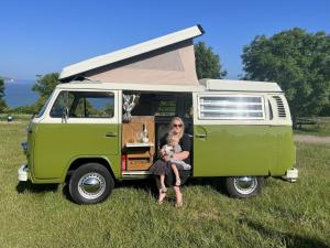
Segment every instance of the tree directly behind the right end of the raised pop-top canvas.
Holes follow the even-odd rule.
[[[219,55],[213,53],[212,48],[205,42],[198,42],[194,45],[196,57],[196,73],[200,78],[223,78],[227,72],[222,69]]]

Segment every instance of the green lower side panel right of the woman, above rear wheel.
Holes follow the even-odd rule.
[[[295,163],[290,127],[204,126],[194,140],[194,176],[284,175]]]

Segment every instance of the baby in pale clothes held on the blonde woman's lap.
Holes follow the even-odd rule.
[[[180,177],[179,177],[179,173],[178,173],[178,169],[179,170],[190,170],[191,165],[185,163],[183,160],[179,159],[174,159],[173,155],[175,153],[182,152],[183,149],[178,143],[178,139],[174,136],[168,136],[167,137],[167,144],[165,144],[161,151],[163,154],[167,155],[167,158],[169,159],[169,163],[170,163],[170,168],[175,174],[175,185],[179,186],[182,184],[180,182]],[[167,166],[167,165],[166,165]],[[167,170],[165,169],[164,172],[166,172]],[[163,193],[165,193],[167,191],[166,186],[165,186],[165,173],[161,174],[161,191]]]

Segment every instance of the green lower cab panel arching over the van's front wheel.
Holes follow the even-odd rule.
[[[120,137],[105,136],[109,131],[120,133],[119,128],[119,125],[103,123],[32,123],[28,152],[32,182],[63,183],[78,159],[101,159],[119,179]]]

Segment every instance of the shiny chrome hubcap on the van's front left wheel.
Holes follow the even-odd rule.
[[[95,200],[106,191],[106,180],[99,173],[87,173],[79,180],[78,191],[85,198]]]

